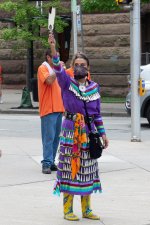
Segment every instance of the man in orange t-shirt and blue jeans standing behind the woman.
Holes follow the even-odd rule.
[[[53,71],[50,49],[46,51],[45,59],[46,61],[38,68],[38,97],[43,145],[42,172],[50,174],[51,171],[57,170],[55,157],[64,107],[61,89]]]

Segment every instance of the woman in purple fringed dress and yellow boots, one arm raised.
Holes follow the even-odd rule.
[[[86,101],[92,130],[96,129],[99,132],[104,148],[107,148],[108,139],[100,115],[99,85],[87,79],[89,60],[84,54],[75,55],[74,78],[71,78],[61,66],[52,34],[49,35],[48,42],[65,107],[54,194],[60,195],[63,192],[66,220],[79,220],[73,213],[74,195],[81,196],[83,218],[99,220],[100,217],[95,215],[90,207],[90,196],[93,192],[101,192],[101,183],[98,162],[96,159],[91,159],[89,154],[87,138],[89,129],[83,102]]]

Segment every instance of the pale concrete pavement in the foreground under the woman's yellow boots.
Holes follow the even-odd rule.
[[[33,117],[33,116],[32,116]],[[83,219],[80,197],[74,212],[84,225],[150,224],[150,141],[111,140],[98,160],[102,194],[92,195],[92,209],[101,221]],[[0,224],[70,225],[63,219],[62,195],[53,195],[56,172],[41,173],[40,138],[1,137]]]

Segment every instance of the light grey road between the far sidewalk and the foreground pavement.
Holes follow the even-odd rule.
[[[131,138],[131,119],[129,117],[103,117],[108,137],[117,140]],[[149,125],[141,119],[142,140],[149,139]],[[0,114],[0,136],[38,137],[40,138],[40,118],[38,115]]]

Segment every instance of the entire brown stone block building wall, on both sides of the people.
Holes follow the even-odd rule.
[[[0,28],[9,26],[0,22]],[[88,14],[83,15],[84,50],[90,60],[93,80],[101,84],[103,95],[125,96],[127,76],[130,67],[129,14]],[[79,49],[81,37],[78,37]],[[3,67],[4,84],[25,85],[26,49],[22,44],[13,50],[12,41],[0,38],[0,64]],[[34,70],[44,60],[44,49],[34,45]],[[72,56],[72,49],[70,57]]]

